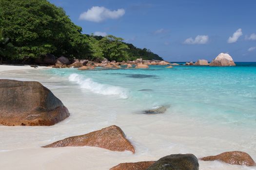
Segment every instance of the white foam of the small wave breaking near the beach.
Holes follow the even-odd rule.
[[[102,95],[117,95],[119,98],[127,99],[128,90],[122,87],[114,85],[104,85],[97,82],[94,82],[90,78],[85,78],[79,74],[71,74],[69,76],[70,82],[76,82],[80,85],[81,88],[88,89],[93,93],[102,94]]]

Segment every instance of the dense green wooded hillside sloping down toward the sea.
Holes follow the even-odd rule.
[[[82,34],[62,8],[47,0],[0,0],[0,59],[27,60],[47,53],[59,57],[108,60],[162,60],[122,38]]]

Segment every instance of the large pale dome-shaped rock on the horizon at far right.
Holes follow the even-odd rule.
[[[210,63],[210,66],[236,66],[233,58],[228,53],[220,53],[218,56]]]

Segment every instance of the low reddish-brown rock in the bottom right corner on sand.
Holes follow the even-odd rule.
[[[253,158],[248,154],[240,151],[220,153],[216,156],[203,157],[200,160],[214,161],[219,160],[233,165],[255,166]]]

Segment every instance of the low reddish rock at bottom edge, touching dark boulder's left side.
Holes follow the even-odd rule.
[[[155,161],[143,161],[134,163],[121,163],[109,170],[147,170]]]

